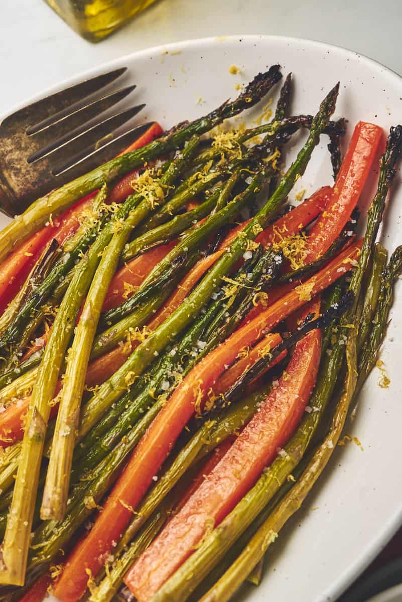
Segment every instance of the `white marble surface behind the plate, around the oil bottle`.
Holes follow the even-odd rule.
[[[43,0],[1,0],[0,114],[105,60],[177,40],[233,33],[329,42],[402,73],[400,22],[398,0],[159,0],[93,45]]]

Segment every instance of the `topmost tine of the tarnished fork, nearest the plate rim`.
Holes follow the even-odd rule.
[[[127,67],[114,69],[108,73],[97,75],[94,78],[66,88],[66,90],[61,90],[61,92],[56,92],[6,117],[2,121],[2,125],[10,129],[13,129],[13,126],[17,126],[19,130],[26,129],[59,111],[65,110],[76,102],[83,101],[87,96],[97,92],[100,88],[105,87],[105,85],[110,84],[120,77],[120,75],[123,75],[126,70]]]

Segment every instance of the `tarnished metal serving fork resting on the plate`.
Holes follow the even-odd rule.
[[[144,104],[96,121],[135,85],[83,101],[125,73],[104,73],[34,102],[0,125],[0,211],[22,213],[35,199],[110,160],[149,128],[146,123],[113,136]]]

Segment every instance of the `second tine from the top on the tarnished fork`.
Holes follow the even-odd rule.
[[[97,101],[90,102],[88,105],[84,105],[84,107],[81,107],[72,113],[69,112],[61,117],[59,117],[60,113],[48,117],[48,119],[44,119],[42,122],[37,123],[37,125],[28,128],[26,134],[29,136],[40,134],[40,141],[42,144],[50,140],[56,140],[60,136],[67,134],[67,132],[73,132],[80,126],[85,125],[85,123],[94,119],[94,117],[97,117],[108,108],[113,107],[113,105],[122,101],[123,98],[135,90],[136,87],[136,85],[128,85],[126,88],[117,90],[117,92],[102,96],[102,98],[99,98]],[[55,120],[55,118],[57,119]]]

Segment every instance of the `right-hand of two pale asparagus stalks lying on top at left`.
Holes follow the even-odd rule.
[[[176,177],[181,173],[181,170],[185,168],[188,158],[191,157],[198,143],[197,137],[191,138],[183,154],[172,161],[160,180],[159,186],[162,194],[164,194],[163,191],[167,187],[175,182]],[[99,257],[99,252],[96,255],[94,255],[92,249],[89,252],[89,256],[93,257],[91,282],[67,358],[66,373],[64,374],[63,389],[61,390],[60,405],[40,512],[43,520],[54,519],[61,521],[66,512],[81,398],[82,393],[84,392],[85,375],[87,373],[91,347],[99,323],[102,305],[111,279],[113,278],[114,272],[116,272],[120,254],[122,253],[123,247],[125,246],[132,229],[135,228],[135,226],[137,226],[153,208],[153,199],[143,197],[141,192],[134,196],[138,197],[135,200],[131,200],[134,209],[132,209],[128,216],[123,220],[122,218],[125,213],[125,205],[127,202],[124,203],[117,213],[118,219],[114,220],[112,227],[107,229],[107,231],[110,231],[110,235],[103,237],[105,240],[108,240],[108,244],[101,249],[102,258],[100,259],[100,262],[99,259],[97,259]],[[120,217],[120,215],[122,217]],[[118,226],[118,228],[116,228],[116,226]],[[78,286],[82,286],[79,281],[77,284]],[[71,286],[72,284],[70,287]],[[86,291],[87,288],[85,288],[84,293],[86,293]],[[138,295],[135,297],[138,297]]]

